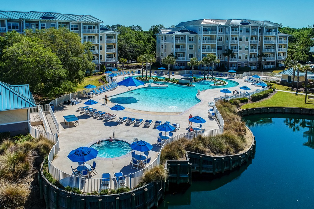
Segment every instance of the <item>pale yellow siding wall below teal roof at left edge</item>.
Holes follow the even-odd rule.
[[[0,125],[19,121],[27,121],[27,109],[0,112]]]

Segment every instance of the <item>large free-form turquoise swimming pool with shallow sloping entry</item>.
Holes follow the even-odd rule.
[[[136,76],[137,77],[137,76]],[[118,94],[109,98],[113,103],[120,104],[124,107],[143,110],[149,112],[184,112],[188,108],[196,105],[198,89],[210,88],[228,88],[239,85],[235,81],[221,79],[228,82],[226,86],[210,86],[212,81],[200,81],[193,83],[195,87],[178,86],[172,83],[166,83],[168,87],[148,87],[132,91],[134,98],[128,98],[130,92]]]

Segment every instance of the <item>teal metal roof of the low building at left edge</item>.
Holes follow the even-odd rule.
[[[29,85],[9,85],[0,81],[0,111],[36,107]]]

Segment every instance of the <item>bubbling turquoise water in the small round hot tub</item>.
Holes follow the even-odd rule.
[[[116,158],[129,153],[132,149],[130,144],[124,141],[109,140],[101,141],[100,144],[90,146],[98,151],[97,157],[100,158]]]

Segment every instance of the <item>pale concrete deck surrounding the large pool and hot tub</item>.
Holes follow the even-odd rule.
[[[139,74],[137,74],[140,76]],[[121,81],[123,77],[127,76],[118,76],[116,77],[117,81]],[[167,77],[167,76],[163,76]],[[175,75],[171,76],[171,78],[179,78],[182,76]],[[215,77],[221,78],[221,77]],[[225,78],[226,79],[226,78]],[[228,79],[227,79],[228,80]],[[244,82],[244,79],[230,79],[231,81],[236,81],[239,83],[239,86],[249,86],[251,88],[250,91],[254,91],[256,89],[260,89],[260,86],[253,86]],[[152,86],[155,86],[153,84]],[[157,85],[160,86],[160,85]],[[139,86],[138,88],[142,88],[143,86]],[[222,87],[223,88],[223,87]],[[118,86],[113,91],[106,93],[107,97],[123,93],[127,91],[128,87],[126,86]],[[136,87],[133,89],[137,89]],[[182,88],[184,89],[184,88]],[[238,90],[240,91],[239,87],[231,87],[228,88],[230,91]],[[208,129],[217,129],[219,128],[218,124],[215,120],[208,119],[208,109],[209,107],[208,102],[211,101],[215,97],[220,97],[225,95],[224,93],[220,92],[221,88],[215,89],[208,89],[206,91],[201,91],[198,98],[201,100],[198,104],[194,105],[193,107],[189,108],[188,110],[181,112],[181,113],[172,113],[172,112],[145,112],[133,109],[124,109],[119,111],[119,117],[131,117],[131,118],[141,118],[141,119],[149,119],[153,120],[153,124],[150,128],[144,128],[143,124],[139,127],[135,127],[133,125],[127,126],[124,124],[118,124],[116,119],[111,121],[104,121],[102,119],[94,118],[93,116],[89,116],[83,113],[80,113],[77,108],[84,107],[84,102],[86,102],[89,98],[84,98],[82,103],[77,105],[62,105],[55,107],[55,116],[60,124],[60,151],[55,157],[52,162],[57,169],[62,170],[65,173],[72,174],[71,165],[73,168],[76,168],[78,163],[72,162],[70,159],[67,158],[69,152],[73,149],[77,149],[81,146],[87,146],[92,142],[97,142],[101,139],[108,139],[110,136],[113,136],[115,133],[116,138],[125,139],[126,141],[133,141],[134,137],[137,137],[138,140],[145,140],[153,145],[153,149],[149,151],[149,157],[151,157],[152,161],[157,157],[160,148],[156,147],[158,131],[154,127],[155,120],[161,120],[162,122],[170,121],[171,123],[180,123],[181,127],[178,131],[174,132],[173,135],[179,135],[181,133],[186,133],[188,128],[188,118],[189,115],[192,116],[199,115],[200,117],[204,118],[207,122],[203,123],[203,128],[206,130]],[[162,89],[160,89],[162,91]],[[242,91],[242,90],[241,90]],[[110,98],[107,105],[104,105],[104,97],[105,94],[101,94],[99,96],[93,97],[92,99],[97,101],[98,103],[92,105],[93,108],[97,110],[101,110],[102,112],[109,112],[111,114],[116,114],[116,111],[110,110],[115,103],[110,102]],[[64,115],[76,115],[79,118],[78,126],[70,124],[64,125],[63,123],[63,116]],[[194,123],[193,123],[194,126]],[[131,165],[129,165],[131,161],[131,154],[127,154],[127,157],[122,159],[115,159],[115,160],[104,160],[104,159],[94,159],[97,163],[96,171],[98,174],[92,176],[92,178],[101,178],[102,173],[111,173],[113,176],[116,172],[123,172],[124,175],[129,173],[136,172],[136,169],[131,169]],[[86,162],[88,164],[92,164],[93,160]],[[139,169],[140,170],[140,169]]]

